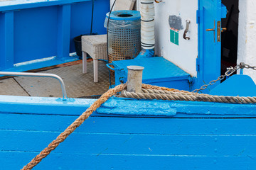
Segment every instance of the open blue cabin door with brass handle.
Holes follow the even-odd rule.
[[[221,0],[198,1],[198,80],[195,88],[220,77],[220,46],[217,40],[217,23],[225,18],[227,9]],[[206,29],[214,28],[214,31]],[[220,82],[203,91],[209,93]]]

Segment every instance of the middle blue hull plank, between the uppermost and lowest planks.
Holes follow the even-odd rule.
[[[39,152],[59,132],[0,130],[4,151]],[[150,154],[256,156],[256,135],[159,135],[74,132],[54,152],[86,154]],[[90,146],[90,147],[89,147]]]

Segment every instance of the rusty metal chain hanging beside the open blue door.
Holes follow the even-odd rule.
[[[193,93],[198,94],[199,91],[201,90],[205,90],[208,86],[212,86],[213,84],[215,84],[217,81],[221,81],[223,79],[225,79],[225,77],[230,77],[234,72],[238,71],[238,69],[253,69],[256,70],[255,66],[250,66],[248,64],[245,64],[244,62],[241,62],[239,65],[235,66],[235,67],[229,67],[227,68],[228,71],[225,72],[225,75],[221,75],[220,77],[218,77],[218,79],[210,81],[209,84],[205,84],[203,86],[201,86],[200,89],[196,89],[194,91],[192,91]]]

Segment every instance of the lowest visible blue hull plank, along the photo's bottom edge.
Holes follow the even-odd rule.
[[[36,153],[0,152],[0,169],[21,169]],[[196,157],[193,155],[58,154],[51,153],[34,169],[255,169],[252,157]]]

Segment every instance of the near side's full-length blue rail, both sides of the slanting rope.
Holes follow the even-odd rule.
[[[0,96],[1,113],[81,115],[95,99]],[[112,97],[92,116],[154,118],[252,118],[256,105]]]

